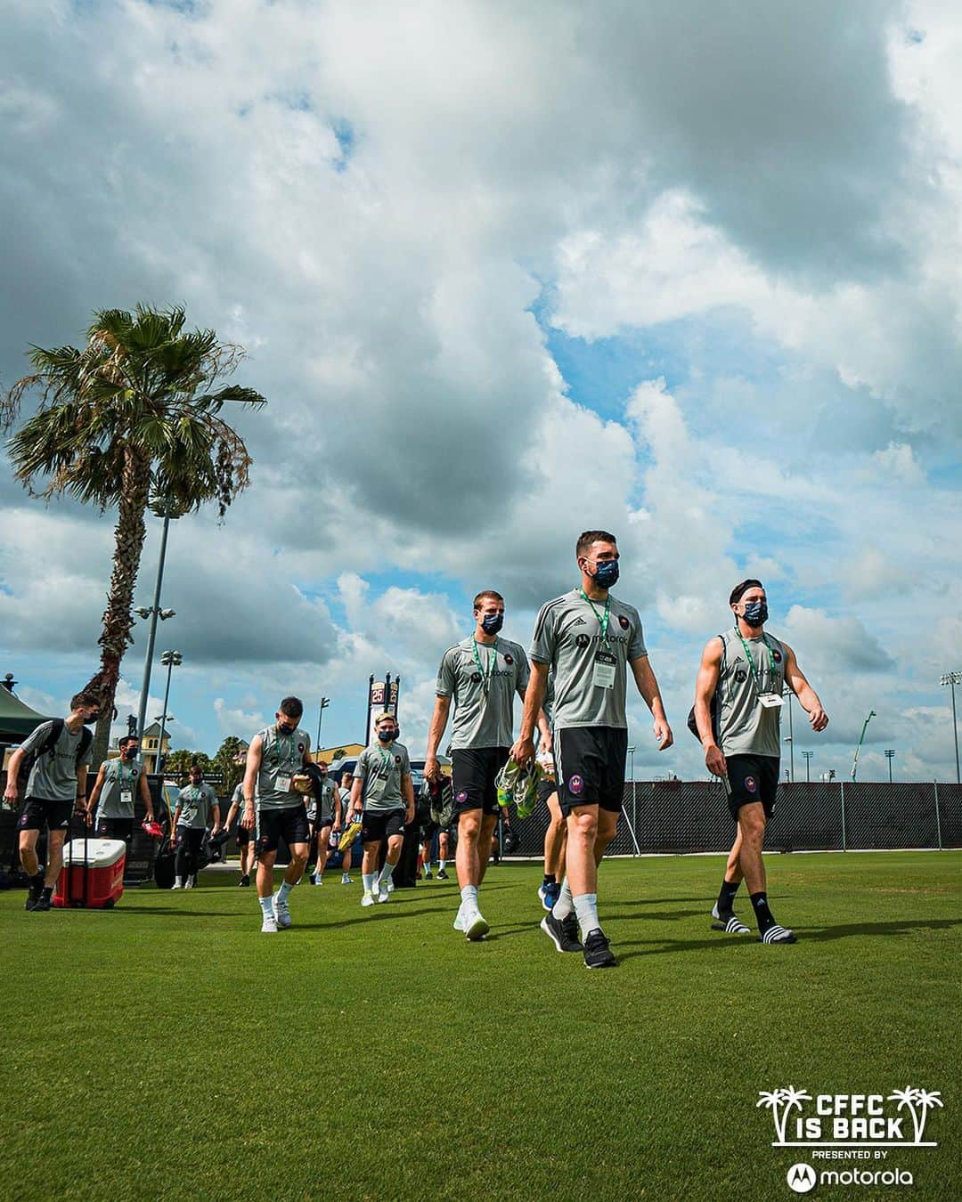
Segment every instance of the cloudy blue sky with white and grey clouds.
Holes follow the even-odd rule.
[[[171,531],[174,745],[280,696],[361,737],[402,676],[423,750],[470,597],[534,614],[617,532],[677,746],[746,575],[832,722],[949,779],[962,667],[962,18],[890,0],[0,0],[0,382],[96,308],[243,343],[253,484]],[[112,514],[0,466],[0,674],[96,665]],[[152,526],[138,583],[150,603]],[[124,664],[136,708],[143,624]],[[154,677],[150,714],[160,714]],[[962,701],[962,697],[960,698]],[[803,764],[796,756],[796,772]]]

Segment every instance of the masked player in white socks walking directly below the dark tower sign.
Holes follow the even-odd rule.
[[[361,815],[364,859],[361,905],[387,902],[393,886],[391,873],[400,859],[405,823],[414,821],[414,783],[408,749],[397,742],[400,733],[393,714],[381,714],[374,724],[376,742],[357,757],[351,789],[351,819]],[[378,855],[387,839],[387,858],[378,874]]]

